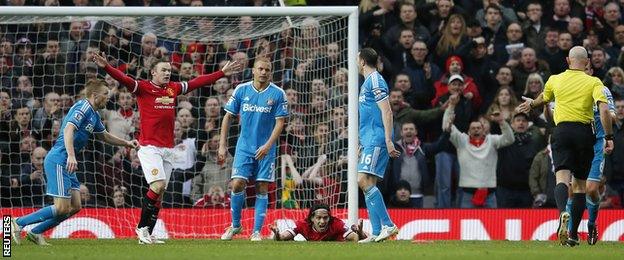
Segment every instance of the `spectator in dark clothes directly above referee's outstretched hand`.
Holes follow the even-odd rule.
[[[548,39],[548,34],[546,35]],[[565,59],[564,59],[565,60]],[[561,63],[561,61],[559,61]],[[537,59],[535,50],[524,48],[521,52],[520,63],[511,70],[514,79],[514,93],[522,93],[526,80],[531,73],[538,73],[543,79],[550,77],[548,65]]]

